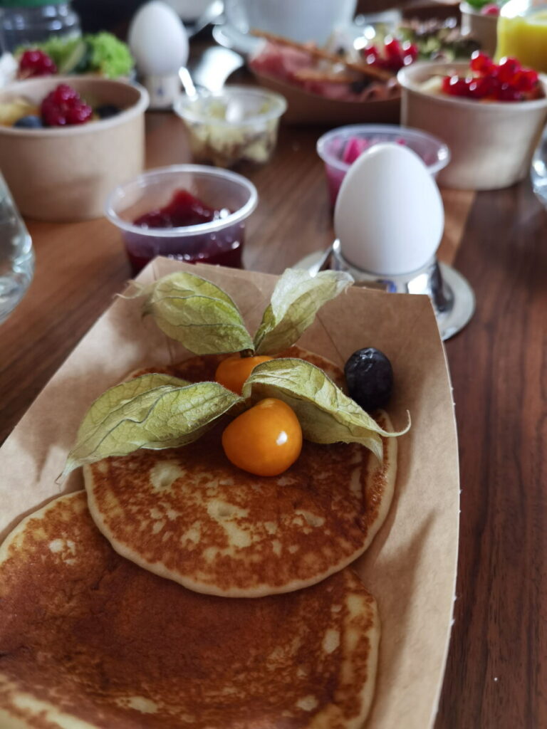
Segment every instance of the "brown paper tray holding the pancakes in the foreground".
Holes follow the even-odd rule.
[[[139,280],[178,268],[222,286],[255,331],[274,276],[158,258]],[[94,398],[130,370],[187,356],[150,317],[141,320],[139,309],[139,300],[115,301],[0,449],[0,537],[53,496],[82,488],[79,472],[63,487],[55,477]],[[349,289],[322,308],[300,344],[338,364],[362,346],[381,349],[395,372],[389,405],[395,427],[406,423],[406,410],[411,413],[411,431],[398,439],[394,502],[354,569],[376,597],[381,618],[379,674],[367,727],[426,729],[437,711],[449,644],[459,525],[454,409],[430,300]]]

